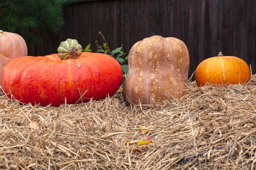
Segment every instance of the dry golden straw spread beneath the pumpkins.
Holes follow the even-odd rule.
[[[189,82],[187,91],[181,100],[132,107],[121,90],[59,107],[1,93],[0,169],[254,170],[255,75],[246,86]],[[137,144],[149,136],[153,142]]]

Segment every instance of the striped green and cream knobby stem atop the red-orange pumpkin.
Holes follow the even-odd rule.
[[[77,59],[82,54],[82,46],[77,40],[70,38],[61,42],[57,50],[61,60]]]

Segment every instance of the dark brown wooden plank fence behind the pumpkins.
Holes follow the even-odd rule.
[[[41,44],[29,55],[56,53],[61,41],[74,38],[85,47],[101,42],[101,31],[115,49],[128,53],[137,41],[152,34],[176,37],[189,49],[189,75],[204,59],[234,55],[256,71],[256,0],[78,0],[65,7],[65,25],[58,34],[38,33]]]

